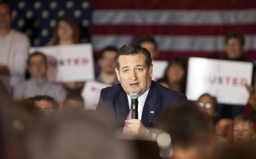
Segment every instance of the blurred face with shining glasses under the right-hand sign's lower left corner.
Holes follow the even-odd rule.
[[[214,100],[208,96],[204,95],[198,100],[198,105],[201,110],[203,110],[205,113],[207,113],[208,116],[211,118],[215,118],[216,112],[214,109]]]

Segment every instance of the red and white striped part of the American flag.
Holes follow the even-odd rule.
[[[223,58],[224,35],[245,35],[244,55],[256,59],[256,0],[94,0],[93,46],[120,47],[153,35],[158,60],[172,55]]]

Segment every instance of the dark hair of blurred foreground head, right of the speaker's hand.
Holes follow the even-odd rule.
[[[157,121],[157,127],[169,133],[172,145],[188,148],[209,144],[209,121],[195,102],[186,101],[165,110]]]

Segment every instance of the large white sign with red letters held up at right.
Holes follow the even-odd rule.
[[[250,62],[189,58],[186,96],[196,101],[209,93],[219,103],[245,105],[249,98],[245,84],[251,84],[252,75]]]

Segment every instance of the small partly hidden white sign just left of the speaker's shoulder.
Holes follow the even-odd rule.
[[[82,97],[84,98],[85,110],[95,110],[99,102],[99,95],[102,88],[109,87],[111,85],[103,84],[97,81],[86,81],[84,89],[82,91]]]

